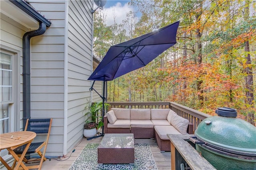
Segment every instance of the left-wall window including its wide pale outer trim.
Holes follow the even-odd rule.
[[[20,128],[20,51],[0,44],[0,133]],[[1,156],[9,159],[6,149]]]

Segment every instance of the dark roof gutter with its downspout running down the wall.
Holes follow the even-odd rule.
[[[38,30],[26,32],[22,38],[23,45],[23,128],[26,125],[26,119],[30,119],[30,39],[40,36],[50,27],[51,22],[39,14],[32,6],[23,0],[10,0],[14,5],[24,11],[26,14],[39,22]]]

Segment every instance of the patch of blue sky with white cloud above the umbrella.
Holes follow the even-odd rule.
[[[133,10],[128,6],[128,2],[130,2],[130,0],[107,0],[106,1],[106,4],[103,7],[102,12],[106,14],[107,26],[114,24],[114,16],[116,16],[117,24],[121,24],[122,20],[125,20],[126,13]],[[94,4],[94,6],[96,5]]]

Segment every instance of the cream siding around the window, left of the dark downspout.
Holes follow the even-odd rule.
[[[14,117],[12,117],[12,129],[11,131],[22,130],[23,128],[23,83],[22,83],[22,37],[28,28],[22,26],[18,22],[12,20],[10,17],[1,13],[0,20],[0,38],[1,38],[1,49],[10,51],[11,53],[16,53],[14,58],[16,60],[16,65],[14,66],[16,71],[14,83],[16,84],[16,93],[14,96]],[[20,121],[18,121],[20,120]]]

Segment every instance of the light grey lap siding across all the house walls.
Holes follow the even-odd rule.
[[[87,79],[92,73],[93,1],[28,3],[52,23],[44,34],[30,40],[30,115],[53,118],[46,155],[62,156],[83,138],[84,107],[91,99]],[[22,37],[30,29],[1,13],[1,47],[20,54],[16,130],[23,130]]]

